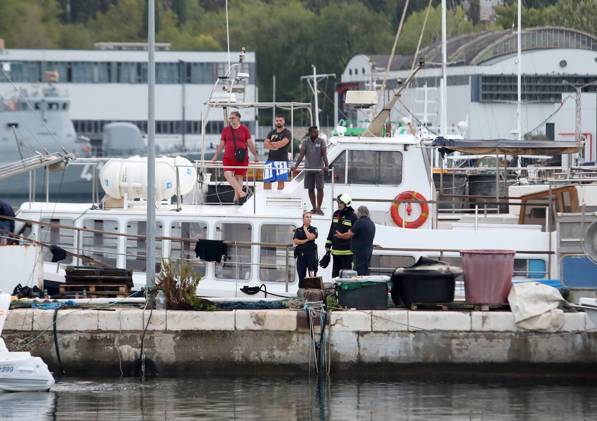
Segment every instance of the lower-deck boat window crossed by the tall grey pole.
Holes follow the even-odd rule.
[[[164,236],[164,227],[162,222],[155,223],[155,236]],[[136,234],[138,236],[147,235],[147,221],[128,221],[127,234]],[[147,240],[143,238],[126,237],[125,239],[125,268],[136,272],[147,270]],[[162,240],[155,241],[155,271],[158,273],[162,267]]]

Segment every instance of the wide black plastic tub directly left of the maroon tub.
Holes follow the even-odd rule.
[[[439,270],[403,270],[392,275],[392,301],[396,305],[413,302],[452,302],[457,274]]]

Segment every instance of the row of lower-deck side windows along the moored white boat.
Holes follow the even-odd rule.
[[[56,225],[73,226],[73,219],[69,218],[44,218],[41,222]],[[168,236],[181,239],[208,239],[210,237],[208,224],[201,221],[172,222],[169,232],[166,233],[162,222],[158,221],[156,236]],[[78,236],[74,230],[55,227],[39,227],[39,240],[44,243],[56,244],[71,252],[90,256],[94,260],[134,271],[146,270],[146,241],[124,237],[124,250],[119,248],[119,239],[123,238],[109,233],[119,233],[119,222],[115,219],[84,219],[83,228],[105,233],[91,233],[80,231]],[[263,224],[258,228],[259,237],[253,239],[253,225],[237,222],[219,222],[215,224],[215,240],[228,240],[237,242],[261,242],[288,244],[292,242],[296,225],[292,224]],[[23,233],[29,237],[32,228],[30,224]],[[147,234],[147,222],[144,220],[128,221],[125,232],[144,236]],[[168,240],[167,250],[164,250],[164,240],[156,241],[156,256],[158,259],[170,258],[175,262],[185,262],[192,265],[193,269],[205,276],[207,266],[205,261],[195,258],[195,243]],[[228,259],[216,264],[213,275],[220,279],[249,280],[253,270],[259,271],[259,279],[268,282],[285,282],[287,276],[290,281],[295,278],[295,267],[292,250],[289,250],[288,273],[286,273],[287,248],[276,246],[257,246],[257,264],[254,265],[253,247],[247,245],[229,245]],[[437,258],[435,255],[429,257]],[[461,267],[459,256],[444,256],[445,262]],[[52,255],[49,250],[44,251],[44,261],[50,262]],[[76,264],[72,256],[68,256],[63,264]],[[391,275],[397,267],[410,267],[415,263],[413,256],[404,255],[378,255],[371,258],[372,275]],[[238,264],[238,265],[237,265]],[[256,269],[255,269],[256,268]],[[156,263],[156,272],[161,269],[161,262]],[[546,262],[543,259],[514,259],[514,273],[516,278],[545,278]]]

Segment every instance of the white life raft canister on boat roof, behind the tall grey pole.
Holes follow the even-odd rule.
[[[189,161],[187,160],[187,162]],[[110,159],[101,169],[100,179],[101,187],[110,197],[121,199],[124,197],[124,193],[127,193],[128,199],[147,199],[147,158],[134,156],[129,159]],[[190,188],[184,193],[188,193]],[[168,200],[175,194],[176,170],[174,165],[167,160],[156,159],[156,200]],[[183,194],[182,190],[181,194]]]

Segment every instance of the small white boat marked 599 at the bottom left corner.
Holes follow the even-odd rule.
[[[0,334],[8,315],[10,294],[0,293]],[[0,338],[0,391],[42,392],[54,385],[54,377],[39,357],[29,352],[10,352]]]

